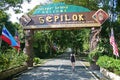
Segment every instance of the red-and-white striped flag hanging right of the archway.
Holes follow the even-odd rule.
[[[116,55],[116,56],[119,56],[118,47],[115,43],[113,28],[111,28],[110,44],[113,47],[113,54]]]

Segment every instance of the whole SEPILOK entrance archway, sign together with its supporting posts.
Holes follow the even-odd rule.
[[[33,15],[23,15],[20,23],[25,30],[25,47],[29,56],[28,66],[33,66],[33,34],[34,30],[56,30],[56,29],[79,29],[83,27],[92,28],[91,46],[93,50],[98,42],[100,26],[108,18],[108,14],[99,9],[90,11],[82,6],[67,5],[65,3],[52,3],[39,6]],[[97,28],[97,29],[96,29]]]

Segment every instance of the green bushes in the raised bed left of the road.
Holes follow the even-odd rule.
[[[27,61],[27,55],[17,53],[15,49],[8,49],[0,53],[0,71],[23,65]]]

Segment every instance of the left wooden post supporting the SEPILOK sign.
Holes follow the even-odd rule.
[[[26,54],[28,55],[27,65],[28,67],[33,66],[33,30],[26,30],[25,31],[25,48]]]

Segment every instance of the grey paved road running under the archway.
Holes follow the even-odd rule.
[[[98,80],[76,61],[75,71],[71,70],[69,59],[51,59],[43,66],[29,70],[18,77],[18,80]]]

